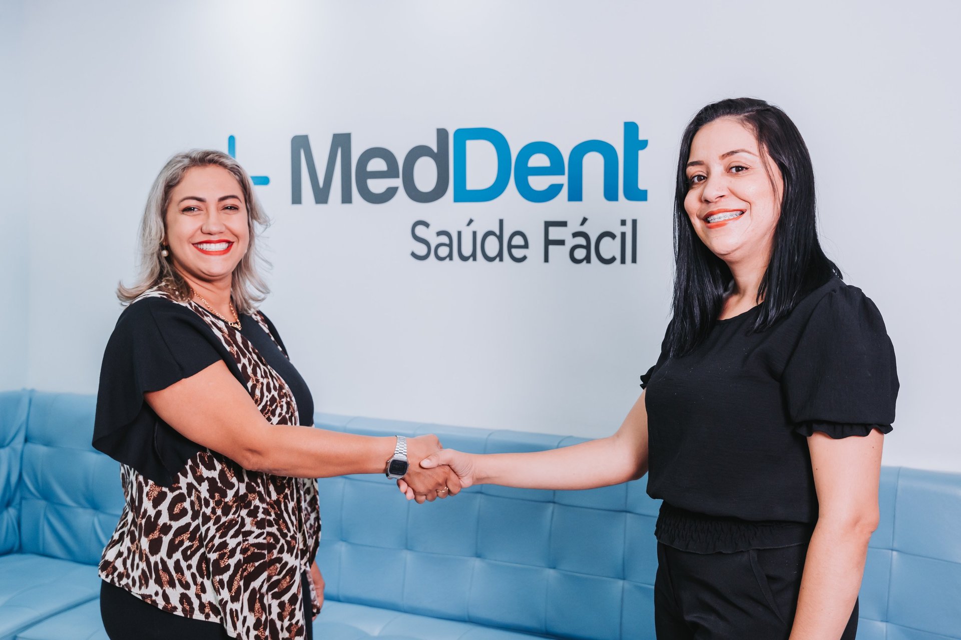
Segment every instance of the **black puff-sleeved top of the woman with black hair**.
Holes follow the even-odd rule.
[[[763,304],[763,302],[762,302]],[[655,534],[698,553],[804,542],[818,517],[805,436],[891,431],[899,381],[875,303],[832,277],[750,333],[757,305],[641,376]]]

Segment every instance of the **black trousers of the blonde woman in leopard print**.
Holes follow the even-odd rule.
[[[313,640],[308,580],[307,573],[301,575],[307,640]],[[168,613],[108,581],[100,584],[100,616],[111,640],[229,640],[234,637],[228,635],[220,623]]]

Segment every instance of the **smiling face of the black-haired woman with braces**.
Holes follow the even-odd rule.
[[[771,253],[784,179],[752,130],[725,117],[691,141],[684,210],[702,243],[728,264]]]

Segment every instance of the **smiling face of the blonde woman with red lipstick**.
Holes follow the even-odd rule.
[[[216,165],[188,169],[164,216],[174,267],[188,281],[229,286],[250,243],[247,202],[236,178]]]

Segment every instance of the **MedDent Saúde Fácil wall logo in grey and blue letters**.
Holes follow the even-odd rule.
[[[640,153],[647,149],[647,139],[640,137],[637,124],[624,123],[624,134],[618,147],[604,140],[585,140],[574,146],[565,156],[550,142],[530,142],[517,154],[511,153],[510,144],[503,133],[484,127],[454,130],[453,144],[446,129],[436,130],[433,145],[418,145],[404,154],[403,160],[383,147],[371,147],[357,155],[350,133],[334,133],[327,149],[326,162],[319,164],[323,155],[315,156],[307,135],[295,135],[290,139],[290,202],[304,204],[305,192],[309,201],[318,205],[331,203],[331,188],[339,179],[340,203],[350,204],[357,195],[366,202],[383,204],[397,197],[403,189],[407,199],[414,202],[433,202],[443,198],[454,182],[455,202],[489,202],[502,196],[513,178],[514,188],[526,201],[549,202],[557,198],[567,186],[567,201],[583,201],[584,158],[598,154],[604,162],[602,194],[605,201],[643,202],[648,200],[647,189],[640,188],[638,164]],[[472,143],[472,145],[468,145]],[[468,187],[468,154],[476,153],[477,145],[488,145],[496,158],[496,175],[490,184]],[[228,153],[235,157],[236,139],[228,138]],[[542,155],[531,165],[535,156]],[[372,169],[376,161],[378,168]],[[414,166],[419,161],[431,162],[436,179],[430,189],[422,189],[414,181]],[[320,167],[321,171],[318,171]],[[307,176],[305,183],[304,177]],[[554,178],[541,180],[535,187],[530,178]],[[254,184],[268,185],[267,176],[252,176]],[[385,180],[400,180],[400,184]],[[545,185],[545,182],[548,182]],[[497,221],[496,228],[479,229],[470,218],[462,228],[431,230],[425,220],[410,225],[410,237],[414,242],[409,255],[415,260],[438,262],[525,262],[531,249],[530,237],[540,237],[544,262],[558,252],[567,253],[573,264],[592,262],[613,264],[637,263],[637,220],[622,219],[615,229],[597,229],[588,225],[582,217],[576,230],[565,237],[566,220],[546,220],[542,231],[529,235],[523,228],[505,229],[504,219]],[[530,223],[525,223],[530,225]],[[602,223],[603,225],[603,223]],[[570,242],[568,242],[570,240]],[[554,254],[552,254],[552,249]],[[567,249],[564,251],[564,249]]]

